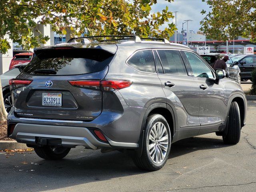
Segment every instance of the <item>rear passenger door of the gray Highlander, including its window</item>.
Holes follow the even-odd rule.
[[[200,90],[187,70],[179,50],[159,49],[154,51],[158,77],[166,94],[167,103],[174,102],[178,113],[178,129],[190,130],[186,134],[197,135],[200,129]],[[159,67],[159,63],[162,67]],[[160,66],[161,66],[160,64]],[[159,70],[160,68],[160,70]]]

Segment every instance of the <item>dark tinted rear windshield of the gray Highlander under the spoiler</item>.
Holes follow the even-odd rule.
[[[38,50],[24,68],[33,75],[78,75],[102,71],[114,54],[102,49]],[[49,73],[47,71],[56,73]],[[46,71],[46,72],[44,72]]]

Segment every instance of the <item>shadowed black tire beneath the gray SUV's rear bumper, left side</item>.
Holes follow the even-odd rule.
[[[34,147],[36,154],[43,159],[46,160],[59,160],[64,158],[70,148],[65,147],[56,147],[56,146],[42,146],[42,147]]]

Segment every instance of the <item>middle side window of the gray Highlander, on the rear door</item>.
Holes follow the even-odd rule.
[[[176,50],[157,50],[165,74],[188,76],[180,52]]]

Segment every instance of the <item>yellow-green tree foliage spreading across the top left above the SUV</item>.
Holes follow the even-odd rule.
[[[172,2],[173,0],[166,0]],[[0,0],[0,52],[10,48],[8,34],[24,49],[35,48],[49,38],[34,36],[37,24],[50,24],[57,34],[72,31],[73,36],[129,35],[169,38],[175,26],[168,7],[151,14],[157,0]],[[160,30],[163,24],[168,27]]]

